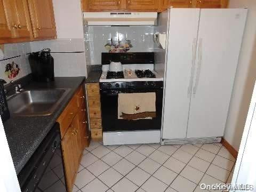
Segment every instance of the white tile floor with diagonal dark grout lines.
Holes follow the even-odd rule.
[[[73,191],[200,192],[200,183],[230,182],[234,165],[234,157],[220,143],[103,146],[91,142]]]

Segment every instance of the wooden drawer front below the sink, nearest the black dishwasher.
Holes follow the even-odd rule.
[[[64,109],[60,117],[57,119],[57,122],[60,124],[60,133],[61,138],[65,135],[68,130],[69,125],[71,124],[73,118],[77,113],[77,101],[76,98],[73,97],[67,107]]]

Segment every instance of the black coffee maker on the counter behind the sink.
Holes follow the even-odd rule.
[[[49,48],[29,54],[33,80],[37,82],[54,81],[54,60]]]

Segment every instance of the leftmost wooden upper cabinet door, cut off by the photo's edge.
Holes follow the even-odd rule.
[[[4,6],[4,3],[6,2],[0,1],[0,38],[11,38],[11,21],[10,18],[7,16],[8,12],[6,10],[6,6],[8,6],[8,4],[5,4]]]

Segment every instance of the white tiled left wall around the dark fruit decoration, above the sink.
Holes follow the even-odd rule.
[[[15,81],[23,76],[31,73],[28,61],[28,53],[31,52],[29,43],[14,43],[1,45],[4,58],[0,59],[0,78],[4,79],[7,83]],[[8,78],[5,71],[7,64],[15,63],[19,66],[20,70],[14,78]]]

